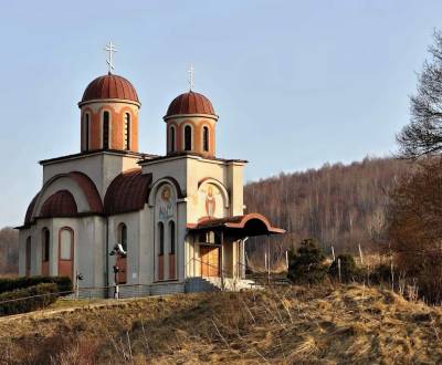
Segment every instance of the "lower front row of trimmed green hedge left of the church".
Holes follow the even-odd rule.
[[[55,283],[40,283],[1,293],[0,315],[25,313],[44,307],[56,300],[57,290],[59,286]]]

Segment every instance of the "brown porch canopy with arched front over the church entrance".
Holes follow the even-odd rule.
[[[254,237],[283,234],[284,229],[272,227],[269,219],[260,213],[204,219],[198,223],[187,225],[190,232],[222,231],[227,236]]]

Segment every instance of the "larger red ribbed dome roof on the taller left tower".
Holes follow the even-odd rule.
[[[78,104],[101,98],[122,98],[140,104],[134,85],[125,77],[113,74],[99,76],[91,82]]]

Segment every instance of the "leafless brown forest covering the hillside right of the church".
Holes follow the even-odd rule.
[[[287,230],[282,237],[254,238],[248,254],[264,262],[284,260],[285,250],[304,238],[316,238],[330,252],[376,252],[383,239],[388,191],[412,165],[392,158],[365,158],[351,165],[324,165],[304,173],[281,174],[251,182],[244,189],[246,211],[260,211],[274,226]]]

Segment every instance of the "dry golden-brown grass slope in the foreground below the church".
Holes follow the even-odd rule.
[[[361,285],[149,298],[0,320],[2,364],[442,362],[442,310]]]

